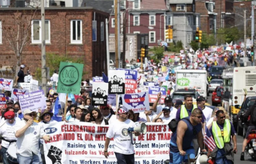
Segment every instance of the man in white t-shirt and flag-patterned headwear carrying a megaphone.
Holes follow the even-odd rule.
[[[110,139],[114,137],[114,152],[119,164],[134,164],[134,147],[131,143],[131,137],[128,128],[136,127],[135,123],[128,119],[128,109],[124,106],[117,110],[118,119],[109,126],[106,134],[104,156],[108,158],[108,145]],[[139,132],[135,132],[135,136],[139,136]]]

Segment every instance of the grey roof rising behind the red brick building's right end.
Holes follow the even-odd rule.
[[[112,12],[113,0],[83,0],[81,6],[91,6],[96,10],[104,11],[106,13]]]

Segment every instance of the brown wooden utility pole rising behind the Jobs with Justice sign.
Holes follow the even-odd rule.
[[[118,54],[118,42],[119,42],[119,38],[118,38],[118,26],[117,24],[119,23],[117,21],[117,0],[115,0],[115,57],[116,57],[116,68],[118,68],[119,66],[119,54]]]

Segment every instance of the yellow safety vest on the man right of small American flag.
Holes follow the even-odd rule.
[[[225,123],[223,126],[223,137],[221,134],[221,129],[218,126],[216,121],[212,122],[212,134],[214,141],[216,143],[216,146],[219,149],[224,148],[224,143],[229,143],[230,142],[230,136],[231,136],[231,124],[228,119],[225,119]]]

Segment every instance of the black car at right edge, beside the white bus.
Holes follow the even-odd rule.
[[[244,120],[244,113],[253,105],[256,101],[256,96],[247,97],[242,103],[240,111],[237,113],[237,134],[245,136],[247,130],[247,120]]]

